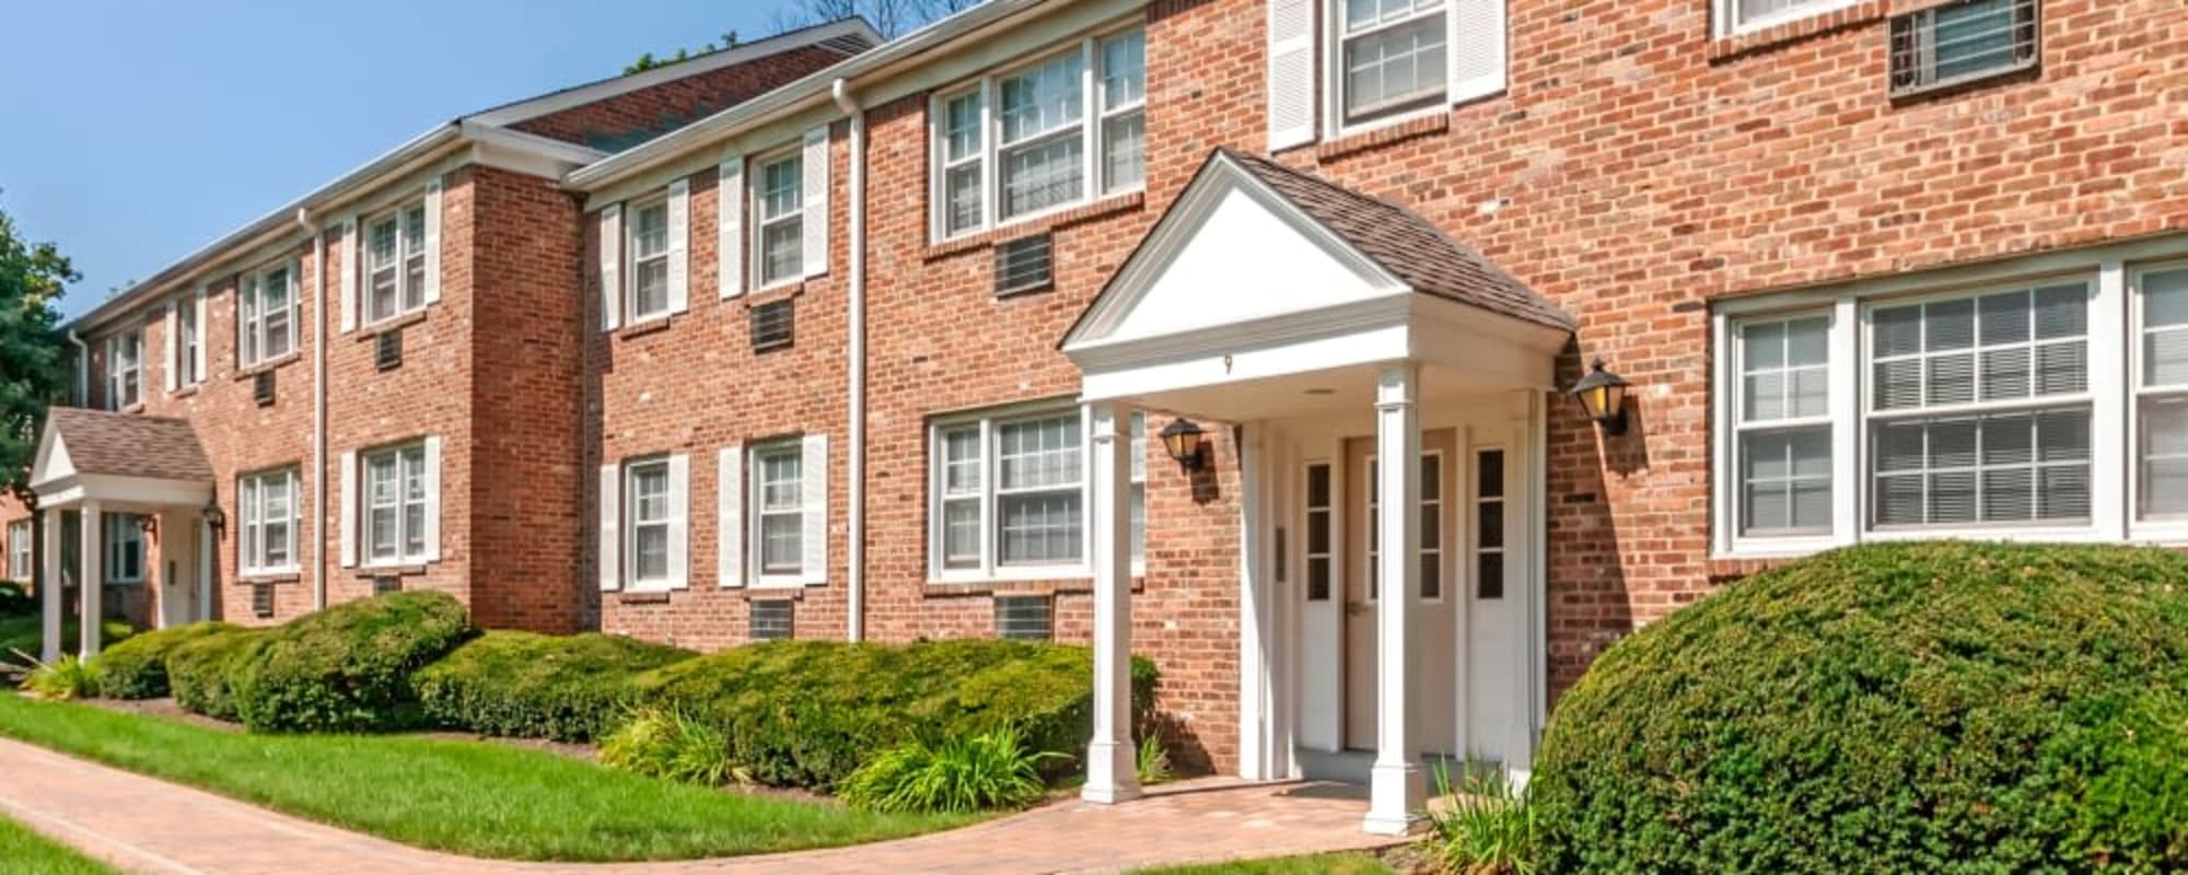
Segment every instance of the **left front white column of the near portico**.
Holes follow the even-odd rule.
[[[1079,798],[1140,798],[1140,763],[1131,744],[1131,411],[1090,405],[1094,422],[1094,488],[1090,547],[1094,558],[1094,742]]]

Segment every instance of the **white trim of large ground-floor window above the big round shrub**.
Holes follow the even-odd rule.
[[[2173,249],[2179,241],[2170,243]],[[1729,302],[1711,315],[1711,339],[1718,350],[1711,368],[1711,558],[1796,558],[1814,551],[1855,542],[1890,540],[2017,540],[2017,542],[2188,542],[2188,527],[2133,525],[2133,396],[2129,383],[2129,359],[2140,337],[2129,332],[2131,306],[2127,273],[2142,271],[2129,267],[2125,258],[2153,252],[2149,245],[2107,247],[2094,254],[2072,254],[2063,258],[2028,258],[2020,265],[1987,265],[1969,271],[1947,271],[1932,282],[1928,278],[1884,278],[1862,287],[1844,287],[1829,293],[1788,293]],[[2164,252],[2162,245],[2155,252]],[[2155,269],[2157,265],[2153,265]],[[1956,278],[1965,278],[1956,282]],[[2015,291],[2046,284],[2090,282],[2087,308],[2087,392],[2074,396],[2046,396],[2041,400],[2013,400],[2009,405],[1967,405],[1952,409],[1925,409],[1921,416],[1939,416],[1956,409],[2035,409],[2090,405],[2090,521],[2083,525],[2055,523],[1995,523],[1995,525],[1952,525],[1952,527],[1906,527],[1875,529],[1869,525],[1873,481],[1869,477],[1869,317],[1877,306],[1901,306],[1925,300],[1980,298],[1995,291]],[[1737,453],[1733,451],[1731,416],[1737,398],[1739,374],[1729,350],[1735,348],[1733,330],[1739,322],[1809,315],[1818,306],[1831,311],[1829,328],[1829,411],[1831,411],[1831,534],[1829,536],[1742,536],[1737,527]],[[2107,350],[2111,350],[2107,354]]]

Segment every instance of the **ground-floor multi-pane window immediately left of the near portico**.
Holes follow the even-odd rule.
[[[1131,556],[1147,551],[1144,420],[1131,418]],[[1076,409],[1006,411],[934,427],[936,578],[1087,569],[1087,455]]]

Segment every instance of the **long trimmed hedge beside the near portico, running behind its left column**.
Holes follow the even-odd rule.
[[[1085,648],[1052,643],[770,641],[648,672],[637,698],[724,728],[731,761],[753,781],[827,790],[910,739],[998,726],[1015,726],[1033,750],[1076,757],[1092,735],[1092,676]],[[1153,663],[1133,658],[1136,709],[1153,687]]]

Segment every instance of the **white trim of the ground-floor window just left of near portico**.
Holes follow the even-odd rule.
[[[998,560],[1000,545],[996,532],[996,505],[998,490],[996,481],[1000,475],[1000,459],[996,457],[998,440],[996,427],[1022,420],[1046,420],[1072,411],[1074,405],[1059,402],[1026,402],[993,407],[974,413],[956,413],[945,418],[934,418],[928,422],[928,584],[1004,584],[1004,582],[1033,582],[1033,580],[1092,580],[1094,567],[1090,564],[1085,551],[1094,545],[1094,424],[1085,413],[1085,407],[1076,407],[1079,416],[1079,508],[1081,521],[1087,532],[1081,532],[1079,545],[1081,556],[1076,562],[1052,562],[1052,564],[1002,564]],[[980,564],[974,569],[947,569],[943,567],[943,538],[947,529],[943,527],[943,477],[947,466],[943,464],[943,433],[963,429],[969,424],[980,427]],[[1127,442],[1138,455],[1147,455],[1147,413],[1133,411],[1127,420]],[[1140,494],[1147,494],[1147,470],[1129,472],[1131,486],[1140,486]],[[1046,492],[1046,490],[1044,490]],[[1127,501],[1131,490],[1127,488]],[[961,499],[963,501],[963,499]],[[1129,516],[1127,516],[1129,518]],[[1147,518],[1147,532],[1153,534],[1155,521]],[[1127,532],[1118,536],[1129,538]],[[1147,556],[1131,558],[1133,578],[1147,573]]]

